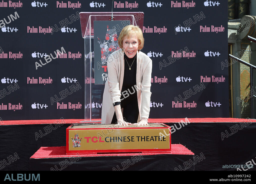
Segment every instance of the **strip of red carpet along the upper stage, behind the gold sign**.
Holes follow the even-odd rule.
[[[100,121],[101,119],[93,119]],[[206,123],[206,122],[256,122],[255,119],[239,119],[239,118],[188,118],[190,123]],[[66,120],[12,120],[0,121],[1,125],[32,125],[32,124],[49,124],[49,123],[63,123],[63,124],[78,124],[84,119],[66,119]],[[88,121],[88,120],[87,120]],[[149,123],[177,123],[186,121],[185,118],[166,118],[166,119],[148,119]],[[98,122],[100,123],[100,122]]]

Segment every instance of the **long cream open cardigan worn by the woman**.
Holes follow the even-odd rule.
[[[105,83],[101,123],[110,124],[115,112],[113,103],[121,102],[121,91],[124,78],[124,53],[122,49],[113,52],[107,61],[108,78]],[[148,118],[150,112],[152,60],[143,52],[137,52],[136,86],[140,122]],[[119,85],[120,84],[120,85]]]

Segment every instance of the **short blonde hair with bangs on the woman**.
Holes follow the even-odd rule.
[[[141,28],[139,26],[134,26],[134,25],[128,25],[125,26],[118,38],[118,45],[122,49],[123,48],[123,39],[127,36],[128,38],[131,38],[134,34],[136,34],[139,42],[138,49],[142,49],[144,46],[144,38],[143,38],[143,33]]]

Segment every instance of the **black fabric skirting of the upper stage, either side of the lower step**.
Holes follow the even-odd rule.
[[[254,164],[256,150],[252,146],[255,124],[249,124],[242,129],[236,128],[237,132],[233,134],[232,127],[241,127],[241,123],[189,123],[186,126],[182,126],[181,123],[167,123],[167,125],[176,129],[175,132],[172,130],[172,144],[182,144],[195,154],[197,162],[192,159],[195,170],[235,171],[237,169],[223,168],[223,165],[245,165],[248,161],[253,164],[253,168],[249,170],[256,170]],[[53,124],[2,126],[0,170],[29,170],[29,158],[40,147],[66,146],[66,128],[69,124],[56,126]],[[49,133],[46,134],[47,129],[51,132],[48,130]],[[20,133],[17,133],[17,130]],[[221,133],[232,135],[223,137]],[[14,157],[15,153],[19,159],[10,162],[8,158]],[[182,168],[184,169],[184,165]]]

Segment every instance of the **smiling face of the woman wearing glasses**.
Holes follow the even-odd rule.
[[[124,53],[128,58],[133,58],[138,50],[139,42],[136,34],[132,35],[130,38],[127,36],[123,39],[123,49]]]

